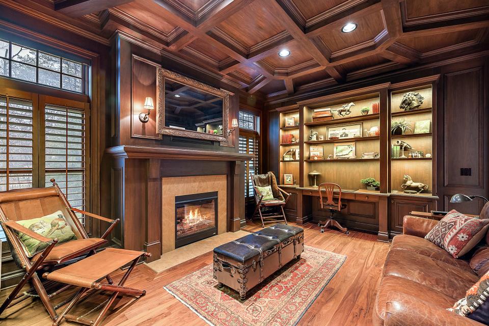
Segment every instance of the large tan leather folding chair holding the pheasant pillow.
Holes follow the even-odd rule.
[[[63,301],[57,307],[52,305],[50,299],[68,289],[71,285],[64,285],[61,289],[48,294],[45,284],[41,282],[36,272],[51,271],[57,266],[59,268],[60,265],[66,265],[70,261],[73,261],[74,258],[94,255],[97,248],[100,248],[108,242],[105,238],[119,222],[119,219],[111,220],[71,207],[55,179],[51,179],[50,181],[53,184],[51,187],[14,189],[0,193],[0,223],[7,235],[12,257],[19,267],[25,270],[25,275],[20,283],[17,284],[0,307],[0,314],[7,307],[13,306],[29,296],[39,296],[51,318],[56,320],[58,317],[56,309],[64,305],[69,299]],[[76,235],[76,240],[70,240],[56,246],[58,239],[44,237],[16,223],[16,221],[40,218],[58,210],[63,212],[66,222]],[[90,238],[75,213],[81,213],[110,223],[110,226],[100,238]],[[28,257],[22,248],[19,232],[38,241],[49,243],[49,245],[33,257]],[[107,281],[112,282],[108,278]],[[31,282],[33,288],[19,294],[22,287],[28,282]],[[37,295],[30,294],[29,292],[37,293]]]

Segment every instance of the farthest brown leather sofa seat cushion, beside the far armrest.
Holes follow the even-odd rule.
[[[391,249],[403,249],[410,252],[430,257],[444,263],[459,267],[466,271],[472,272],[473,268],[461,259],[454,259],[445,249],[438,247],[436,244],[417,236],[398,234],[392,239]]]

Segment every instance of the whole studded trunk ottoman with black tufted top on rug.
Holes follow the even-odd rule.
[[[304,230],[276,224],[214,249],[214,279],[239,292],[260,284],[304,252]]]

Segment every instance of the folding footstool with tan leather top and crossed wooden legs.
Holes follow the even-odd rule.
[[[48,280],[82,287],[78,293],[76,293],[68,307],[66,307],[65,311],[63,311],[63,313],[58,316],[55,321],[53,321],[52,325],[57,326],[61,320],[65,318],[68,321],[97,326],[100,324],[119,293],[133,295],[146,294],[145,290],[131,289],[123,286],[129,277],[129,274],[131,274],[132,269],[142,256],[151,257],[151,254],[142,251],[107,248],[104,251],[53,271],[52,273],[44,273],[42,276]],[[109,274],[123,267],[125,264],[130,263],[131,261],[132,263],[129,269],[127,269],[119,284],[114,285]],[[102,283],[102,280],[106,280],[107,283]],[[114,292],[111,297],[106,300],[106,302],[101,303],[99,306],[93,309],[96,310],[98,307],[105,304],[97,318],[95,320],[90,320],[88,318],[84,318],[85,315],[79,317],[68,315],[67,313],[71,308],[73,308],[80,297],[91,289]],[[88,293],[85,295],[84,299],[91,294],[93,293]]]

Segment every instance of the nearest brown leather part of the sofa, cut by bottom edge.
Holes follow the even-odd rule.
[[[454,300],[455,303],[455,300]],[[448,308],[448,307],[447,307]],[[384,326],[484,326],[401,292],[387,296]]]

